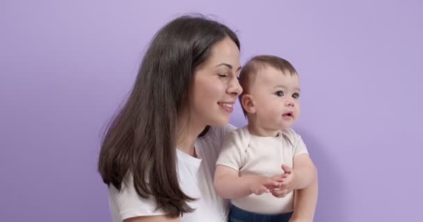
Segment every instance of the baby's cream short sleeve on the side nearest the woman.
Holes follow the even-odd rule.
[[[244,166],[244,144],[239,130],[232,130],[223,140],[222,150],[216,166],[223,165],[239,171]]]

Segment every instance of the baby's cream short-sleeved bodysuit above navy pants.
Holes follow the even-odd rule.
[[[228,133],[216,165],[220,164],[248,174],[276,176],[283,173],[282,164],[293,166],[294,155],[308,153],[300,135],[292,129],[281,130],[277,137],[251,135],[248,127]],[[250,212],[280,214],[294,210],[294,192],[283,198],[272,194],[250,194],[232,200],[232,204]]]

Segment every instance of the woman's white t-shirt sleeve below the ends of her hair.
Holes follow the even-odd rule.
[[[122,221],[136,216],[166,214],[163,210],[156,209],[154,198],[142,198],[136,193],[132,179],[127,184],[122,184],[120,191],[113,185],[109,186],[109,205],[111,212],[120,215]]]

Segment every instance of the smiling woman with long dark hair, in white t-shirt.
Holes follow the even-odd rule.
[[[204,17],[154,36],[99,155],[113,221],[227,221],[212,178],[242,92],[239,49],[230,28]]]

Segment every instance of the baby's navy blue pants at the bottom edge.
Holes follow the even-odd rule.
[[[283,214],[257,214],[230,206],[229,222],[288,222],[292,212]]]

